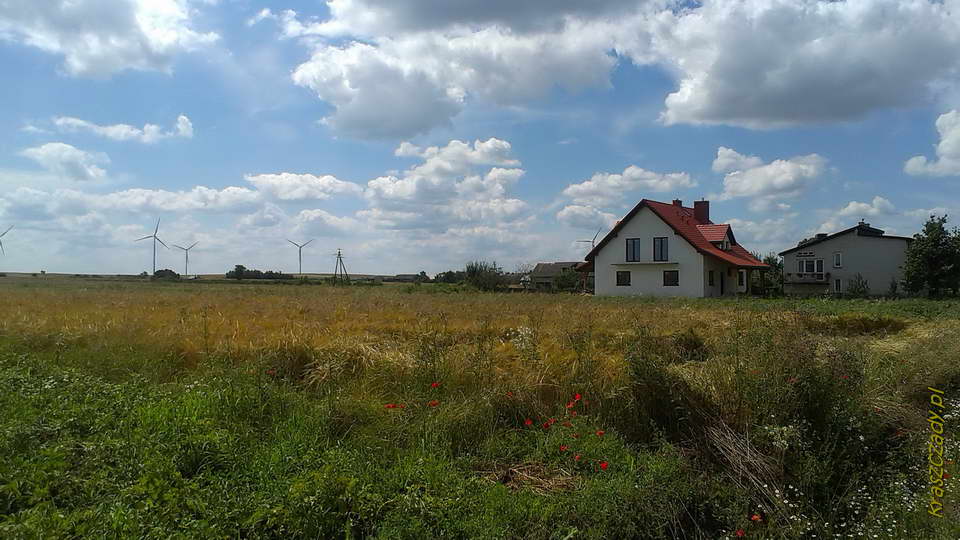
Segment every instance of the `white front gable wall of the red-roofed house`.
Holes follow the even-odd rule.
[[[654,263],[654,237],[667,238],[667,263]],[[640,239],[641,262],[647,264],[626,262],[628,238]],[[704,257],[682,236],[675,234],[653,210],[642,208],[620,229],[617,236],[597,253],[593,261],[596,274],[594,291],[599,296],[703,296],[706,283],[703,260]],[[631,273],[629,287],[617,286],[618,270]],[[678,270],[680,285],[664,287],[664,270]],[[733,285],[736,286],[736,281]],[[719,290],[717,287],[718,294]]]

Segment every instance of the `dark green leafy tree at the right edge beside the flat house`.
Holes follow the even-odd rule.
[[[947,216],[931,215],[923,230],[913,235],[903,269],[904,288],[911,293],[927,291],[937,297],[960,284],[960,232],[948,231]]]

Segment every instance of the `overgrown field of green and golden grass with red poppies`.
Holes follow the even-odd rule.
[[[0,536],[960,535],[948,302],[88,287],[3,291]]]

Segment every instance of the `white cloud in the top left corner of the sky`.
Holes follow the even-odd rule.
[[[206,2],[205,2],[206,3]],[[191,25],[196,1],[50,0],[0,4],[0,40],[64,58],[74,76],[169,72],[173,57],[216,41]]]

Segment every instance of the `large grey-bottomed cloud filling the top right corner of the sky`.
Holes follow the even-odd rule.
[[[953,1],[707,1],[650,21],[638,63],[678,88],[666,124],[775,128],[914,105],[960,67]]]

